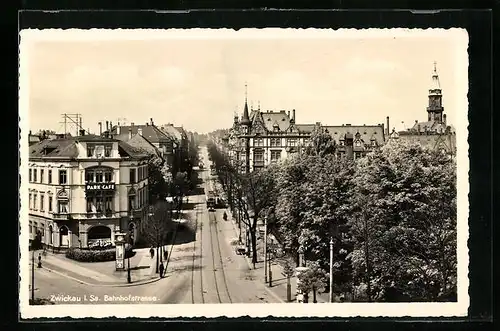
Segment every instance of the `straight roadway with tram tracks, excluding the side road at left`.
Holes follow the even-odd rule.
[[[201,147],[204,164],[210,164],[206,147]],[[209,171],[200,170],[204,189]],[[277,303],[250,269],[245,258],[236,255],[232,241],[237,234],[223,210],[209,212],[205,195],[189,197],[195,203],[184,231],[195,232],[195,240],[174,246],[167,277],[161,280],[160,303]],[[182,234],[182,232],[181,232]],[[147,285],[146,285],[147,286]]]

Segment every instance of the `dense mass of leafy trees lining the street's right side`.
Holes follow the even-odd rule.
[[[337,157],[336,147],[316,132],[303,153],[242,174],[241,161],[209,145],[230,208],[250,234],[252,261],[267,226],[281,260],[306,267],[305,301],[328,293],[330,282],[330,301],[456,300],[455,159],[408,141],[356,161]]]

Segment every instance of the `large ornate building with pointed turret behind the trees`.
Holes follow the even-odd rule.
[[[296,123],[295,109],[261,111],[251,109],[245,98],[243,116],[234,116],[233,126],[221,145],[240,172],[251,172],[276,163],[294,153],[302,152],[310,143],[311,134],[322,130],[337,145],[339,157],[359,158],[385,143],[383,124],[324,126]]]

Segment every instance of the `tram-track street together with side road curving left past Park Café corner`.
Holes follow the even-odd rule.
[[[210,164],[206,147],[200,150],[204,164]],[[70,276],[71,267],[67,267],[68,273],[35,268],[35,296],[55,304],[279,302],[266,291],[245,257],[236,255],[232,244],[238,235],[233,224],[224,221],[224,210],[208,211],[205,192],[209,170],[199,170],[199,178],[196,194],[188,197],[193,207],[183,211],[188,221],[168,246],[170,257],[164,278],[135,286],[125,282],[120,286],[96,286]],[[75,268],[79,268],[76,263]],[[99,270],[102,266],[87,264],[87,268]]]

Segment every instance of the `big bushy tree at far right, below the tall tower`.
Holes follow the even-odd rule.
[[[447,155],[408,142],[359,163],[351,257],[369,300],[455,297],[455,167]]]

